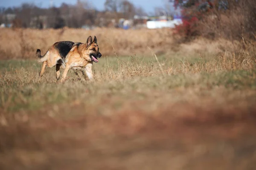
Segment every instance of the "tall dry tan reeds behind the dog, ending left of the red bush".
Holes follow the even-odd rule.
[[[113,55],[113,47],[119,55],[150,53],[151,48],[163,48],[170,44],[168,30],[127,30],[100,28],[93,31],[84,29],[64,28],[59,30],[46,29],[1,29],[0,51],[1,58],[33,58],[35,50],[41,48],[46,52],[56,41],[70,40],[85,42],[89,35],[95,35],[99,40],[100,50],[103,55]],[[163,45],[163,46],[161,46]],[[23,54],[24,53],[24,54]]]

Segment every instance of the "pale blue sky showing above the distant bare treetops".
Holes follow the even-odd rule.
[[[20,6],[22,3],[34,3],[35,5],[48,8],[50,5],[50,0],[0,0],[0,6],[2,7],[13,7]],[[129,0],[135,6],[140,6],[144,8],[146,12],[153,12],[154,7],[163,6],[165,0]],[[104,9],[105,0],[87,0],[93,7],[98,10]],[[53,0],[53,3],[56,7],[60,6],[61,3],[75,4],[76,0]]]

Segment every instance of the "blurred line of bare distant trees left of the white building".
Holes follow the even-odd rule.
[[[105,9],[98,11],[85,0],[75,5],[62,3],[60,7],[40,8],[34,3],[23,3],[18,7],[0,8],[0,23],[12,23],[22,28],[81,28],[87,26],[108,26],[120,18],[132,19],[134,15],[147,15],[143,8],[134,6],[128,0],[106,0]]]

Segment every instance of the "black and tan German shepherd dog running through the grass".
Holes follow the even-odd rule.
[[[46,66],[52,68],[56,65],[56,78],[60,78],[60,68],[64,68],[61,82],[64,82],[67,72],[72,68],[77,74],[77,70],[82,71],[83,75],[87,75],[89,80],[93,79],[92,66],[93,62],[98,62],[102,54],[99,52],[97,38],[89,36],[86,43],[61,41],[55,42],[49,50],[41,56],[41,50],[37,49],[36,57],[38,62],[43,62],[39,76],[42,77]],[[85,74],[84,74],[85,73]]]

